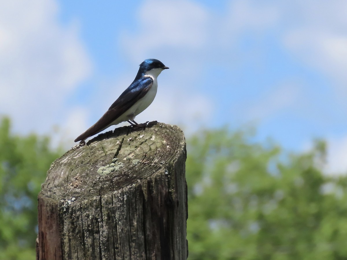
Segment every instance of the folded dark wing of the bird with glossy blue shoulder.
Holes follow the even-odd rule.
[[[101,118],[87,129],[82,135],[75,139],[77,141],[84,141],[90,136],[93,136],[105,128],[107,128],[119,116],[125,113],[131,106],[133,106],[139,99],[144,97],[153,84],[151,77],[142,77],[133,82],[110,106],[108,111],[101,116]]]

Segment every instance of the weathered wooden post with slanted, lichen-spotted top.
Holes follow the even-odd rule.
[[[186,148],[151,122],[73,147],[39,193],[36,258],[187,259]]]

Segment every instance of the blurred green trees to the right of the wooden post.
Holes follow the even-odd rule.
[[[283,156],[222,129],[187,145],[188,259],[347,259],[347,178],[322,174],[324,142]]]

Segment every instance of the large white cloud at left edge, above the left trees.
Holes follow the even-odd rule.
[[[62,124],[66,96],[90,71],[77,26],[58,23],[55,1],[0,3],[0,113],[15,131]]]

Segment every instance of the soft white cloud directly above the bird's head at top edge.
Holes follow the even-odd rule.
[[[146,1],[138,10],[139,33],[124,32],[122,42],[137,61],[150,50],[166,47],[201,48],[207,35],[208,11],[185,0]]]

